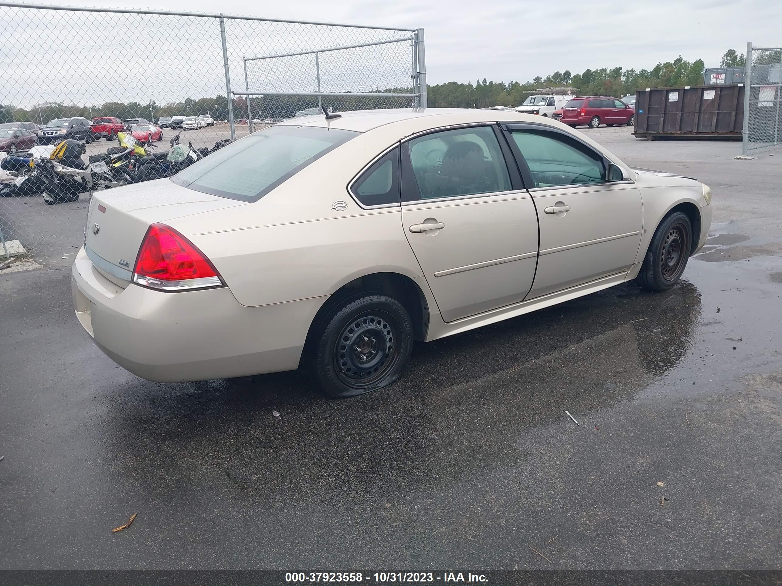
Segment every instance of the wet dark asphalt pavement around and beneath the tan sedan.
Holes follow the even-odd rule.
[[[0,568],[780,568],[782,152],[590,135],[712,186],[680,284],[417,345],[360,398],[143,381],[59,252],[0,275]]]

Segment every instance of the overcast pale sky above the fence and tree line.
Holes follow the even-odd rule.
[[[79,4],[138,7],[134,0]],[[727,48],[745,52],[747,41],[782,43],[779,0],[159,0],[154,8],[424,27],[430,84],[525,81],[565,69],[649,69],[676,55],[713,67]]]

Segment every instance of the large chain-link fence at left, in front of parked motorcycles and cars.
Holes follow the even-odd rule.
[[[133,160],[120,180],[100,174],[128,134],[148,154],[179,135],[208,155],[321,106],[426,104],[420,29],[6,2],[0,20],[0,261],[72,257],[91,191],[149,178]],[[83,185],[52,196],[36,161],[64,140],[84,144],[67,178]]]

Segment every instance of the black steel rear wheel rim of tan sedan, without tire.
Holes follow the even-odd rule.
[[[343,328],[334,348],[334,370],[347,387],[372,388],[399,359],[399,327],[388,313],[368,311]]]

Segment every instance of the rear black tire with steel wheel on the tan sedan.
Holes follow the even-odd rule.
[[[375,391],[398,379],[413,348],[407,309],[386,295],[359,293],[321,313],[309,356],[311,376],[335,398]]]

